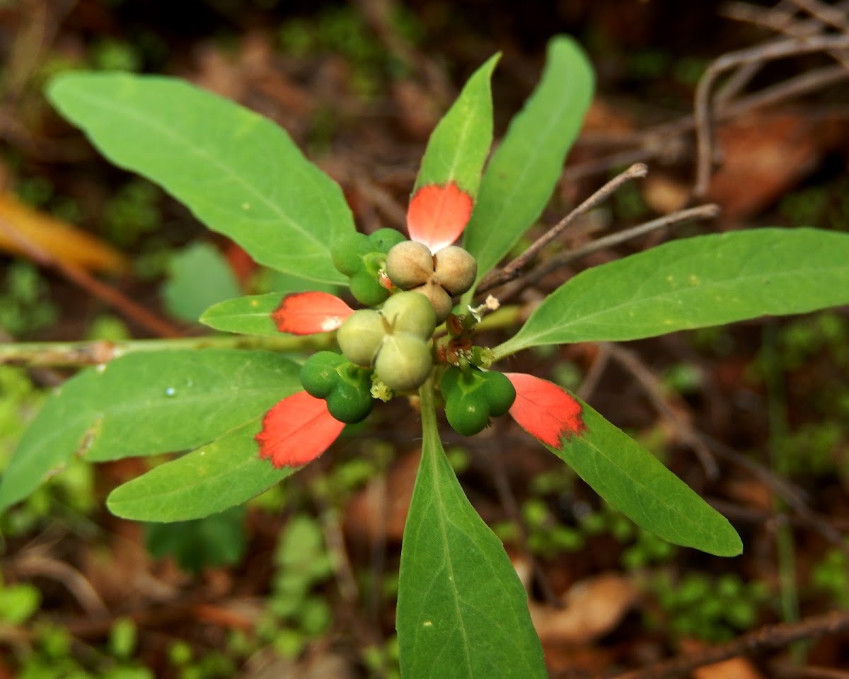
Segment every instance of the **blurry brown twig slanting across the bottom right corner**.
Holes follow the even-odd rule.
[[[763,626],[742,637],[737,637],[732,642],[706,648],[697,653],[690,651],[676,658],[649,665],[642,670],[616,675],[613,679],[672,679],[672,677],[686,675],[696,668],[713,665],[761,648],[781,648],[800,639],[822,637],[845,630],[849,630],[849,611],[830,611],[803,618],[798,622]]]

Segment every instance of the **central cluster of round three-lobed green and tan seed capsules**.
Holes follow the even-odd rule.
[[[327,401],[334,418],[355,423],[368,416],[375,398],[415,390],[428,379],[434,367],[430,339],[449,317],[452,297],[474,283],[477,263],[456,246],[432,255],[427,246],[404,240],[393,229],[351,234],[331,254],[335,267],[349,278],[351,294],[365,305],[383,306],[354,311],[336,334],[341,355],[319,351],[310,356],[301,368],[301,384]],[[459,332],[465,340],[474,325]],[[481,351],[473,347],[462,361],[454,352],[455,360],[444,361],[440,388],[448,423],[463,435],[481,431],[515,399],[509,379],[481,370],[488,366]]]

